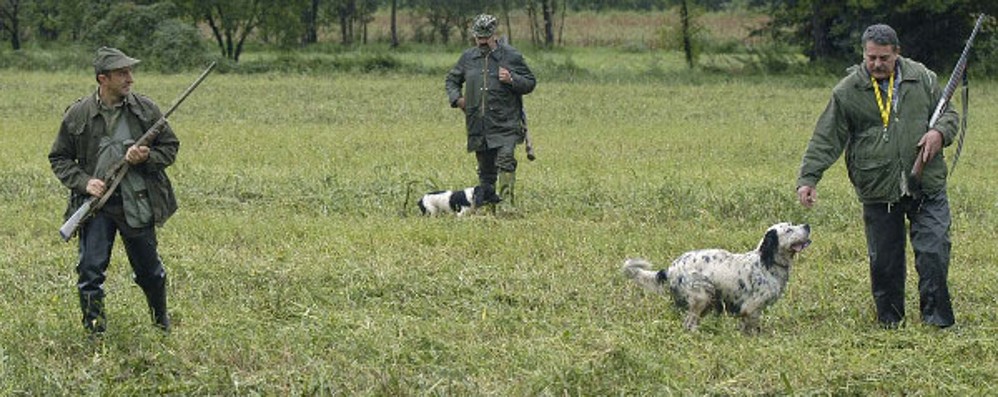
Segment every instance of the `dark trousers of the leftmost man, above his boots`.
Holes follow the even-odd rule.
[[[104,297],[104,281],[116,232],[121,233],[135,283],[143,291],[161,289],[166,284],[166,270],[156,250],[156,228],[128,226],[121,205],[108,202],[80,230],[76,287],[81,297]]]

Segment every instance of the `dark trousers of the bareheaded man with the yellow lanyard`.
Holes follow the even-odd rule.
[[[931,197],[903,198],[893,204],[863,205],[870,282],[877,319],[895,325],[904,319],[906,276],[905,219],[918,272],[922,322],[948,327],[955,322],[947,278],[949,274],[950,211],[946,192]]]

